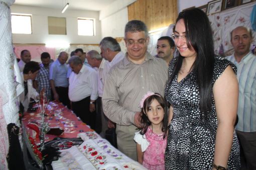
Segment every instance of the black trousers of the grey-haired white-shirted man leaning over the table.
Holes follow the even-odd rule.
[[[90,96],[79,101],[72,101],[72,110],[84,123],[95,129],[96,111],[90,112]]]

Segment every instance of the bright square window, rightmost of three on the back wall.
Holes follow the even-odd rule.
[[[95,19],[93,18],[77,18],[78,35],[95,35]]]

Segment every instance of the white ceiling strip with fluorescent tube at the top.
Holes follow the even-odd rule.
[[[14,4],[62,9],[68,2],[68,9],[99,11],[113,1],[115,0],[15,0]]]

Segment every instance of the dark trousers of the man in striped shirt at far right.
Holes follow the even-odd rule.
[[[244,132],[236,130],[236,134],[241,146],[241,169],[256,170],[256,131]]]

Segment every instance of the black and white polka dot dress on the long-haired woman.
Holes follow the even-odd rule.
[[[176,62],[176,58],[170,62],[169,75],[174,70]],[[236,71],[235,65],[230,61],[215,57],[212,85],[228,65]],[[213,96],[212,109],[208,112],[208,118],[203,119],[200,116],[196,75],[192,71],[180,82],[177,81],[177,77],[178,74],[172,82],[168,82],[165,89],[166,99],[173,105],[173,119],[169,126],[165,151],[165,167],[166,169],[212,169],[217,130]],[[228,169],[239,169],[239,167],[239,144],[234,132]]]

